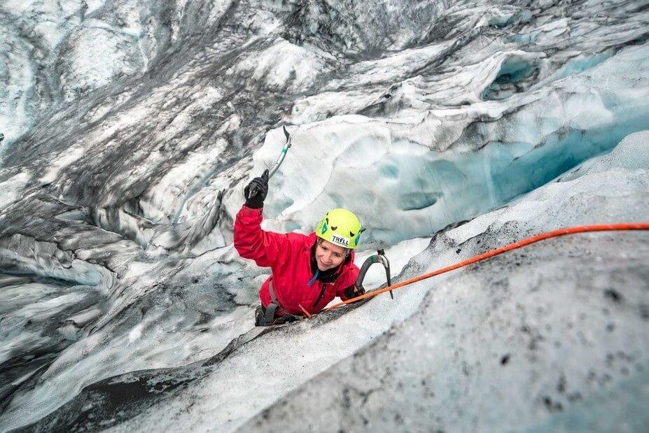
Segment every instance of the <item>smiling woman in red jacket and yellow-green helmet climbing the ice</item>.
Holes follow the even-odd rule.
[[[356,215],[342,208],[328,211],[309,235],[266,232],[261,214],[267,192],[268,170],[244,189],[246,202],[235,220],[239,255],[272,272],[259,290],[255,324],[297,320],[320,311],[336,296],[346,301],[362,294],[354,287],[359,273],[354,248],[364,230]]]

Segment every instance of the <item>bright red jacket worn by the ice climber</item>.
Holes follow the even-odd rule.
[[[333,298],[347,300],[344,290],[356,283],[359,269],[354,264],[354,251],[340,264],[333,283],[323,283],[313,278],[311,250],[316,234],[280,234],[261,229],[262,209],[243,206],[235,220],[235,248],[241,257],[252,259],[257,266],[270,267],[272,275],[259,290],[259,298],[266,308],[272,299],[268,291],[273,282],[279,306],[291,314],[304,314],[300,304],[309,313],[324,308]]]

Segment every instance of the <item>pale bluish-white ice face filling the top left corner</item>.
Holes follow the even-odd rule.
[[[0,132],[11,144],[92,90],[146,71],[173,38],[173,6],[146,1],[4,1]],[[1,148],[0,148],[1,150]]]

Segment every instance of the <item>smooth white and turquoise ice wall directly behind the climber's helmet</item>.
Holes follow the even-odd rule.
[[[271,183],[269,227],[306,232],[329,208],[351,206],[372,227],[365,240],[384,246],[470,220],[645,127],[646,71],[648,50],[631,47],[507,104],[391,122],[337,116],[293,129],[294,145]],[[251,176],[272,165],[283,141],[279,131],[267,136]],[[238,204],[235,192],[233,211]]]

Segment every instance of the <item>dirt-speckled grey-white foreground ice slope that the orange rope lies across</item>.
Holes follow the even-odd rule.
[[[648,174],[649,132],[634,134],[438,234],[400,278],[558,226],[637,220]],[[384,294],[253,329],[207,362],[96,383],[33,427],[639,431],[648,420],[648,254],[644,232],[545,241],[401,289],[396,301]],[[377,331],[386,332],[365,344]]]

